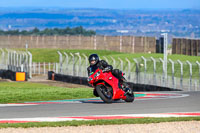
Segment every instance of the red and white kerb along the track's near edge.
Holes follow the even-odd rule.
[[[3,122],[58,122],[58,121],[72,121],[72,120],[96,120],[96,119],[123,119],[123,118],[167,118],[167,117],[194,117],[199,116],[200,112],[187,113],[157,113],[157,114],[125,114],[125,115],[95,115],[95,116],[67,116],[67,117],[36,117],[36,118],[10,118],[0,119]]]

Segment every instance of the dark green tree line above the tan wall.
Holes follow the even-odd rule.
[[[38,28],[34,28],[33,30],[0,30],[0,35],[83,35],[83,36],[92,36],[96,35],[96,32],[93,30],[86,30],[82,26],[70,28],[66,27],[64,29],[60,28],[46,28],[44,30],[40,30]]]

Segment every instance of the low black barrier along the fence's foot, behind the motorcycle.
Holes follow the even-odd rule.
[[[56,74],[53,71],[48,72],[48,79],[52,80],[52,75],[54,75],[55,81],[62,81],[73,84],[87,85],[91,86],[86,77],[77,77],[71,75],[62,75]],[[153,86],[153,85],[144,85],[144,84],[135,84],[132,82],[128,82],[129,86],[133,89],[133,91],[181,91],[178,89],[172,89],[167,87]]]

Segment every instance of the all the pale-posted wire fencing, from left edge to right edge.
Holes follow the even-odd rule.
[[[0,49],[0,69],[32,74],[47,74],[54,71],[59,74],[87,77],[88,57],[81,53],[61,53],[59,63],[32,62],[30,52]],[[199,61],[180,61],[168,59],[165,75],[162,58],[156,57],[116,57],[101,56],[115,69],[125,72],[125,78],[136,84],[163,86],[184,91],[200,90]]]

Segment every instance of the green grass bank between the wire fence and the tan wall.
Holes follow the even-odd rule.
[[[25,49],[17,49],[17,50],[25,50]],[[133,58],[140,58],[141,56],[144,56],[146,58],[154,57],[154,58],[163,58],[163,54],[156,54],[156,53],[120,53],[120,52],[115,52],[115,51],[106,51],[106,50],[69,50],[69,49],[28,49],[32,54],[33,54],[33,62],[58,62],[59,61],[59,55],[57,51],[60,52],[66,52],[66,53],[84,53],[87,56],[96,53],[100,57],[101,56],[112,56],[114,58],[128,58],[132,60]],[[198,56],[187,56],[187,55],[169,55],[169,59],[172,59],[174,61],[176,60],[181,60],[181,61],[186,61],[189,60],[191,62],[200,62],[200,58]]]

